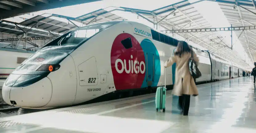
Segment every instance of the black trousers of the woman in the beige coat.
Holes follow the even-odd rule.
[[[182,108],[184,116],[188,115],[189,104],[190,95],[182,94],[182,96],[179,96],[179,106]]]

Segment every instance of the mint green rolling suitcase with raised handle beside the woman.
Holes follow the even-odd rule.
[[[165,112],[165,98],[166,98],[166,69],[165,69],[165,81],[164,81],[164,87],[160,86],[156,89],[155,94],[155,108],[156,111],[162,110]]]

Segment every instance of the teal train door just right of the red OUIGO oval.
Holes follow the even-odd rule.
[[[154,82],[154,68],[155,68],[155,62],[154,62],[154,54],[151,52],[146,52],[146,82],[147,86],[151,86]]]

